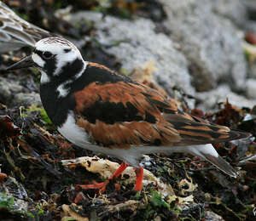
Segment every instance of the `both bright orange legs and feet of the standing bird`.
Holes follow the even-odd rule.
[[[111,179],[116,179],[119,178],[119,175],[124,172],[126,167],[129,167],[129,164],[125,163],[124,161],[122,164],[119,166],[119,168],[111,175],[110,178],[108,178],[105,182],[102,183],[97,183],[94,182],[93,184],[84,184],[84,185],[76,185],[76,189],[94,189],[94,190],[99,190],[100,193],[104,192],[106,190],[106,186],[108,185],[109,181]],[[141,191],[143,189],[143,167],[138,167],[135,169],[136,173],[136,185],[135,185],[135,191]],[[116,190],[119,189],[119,185],[115,184]]]

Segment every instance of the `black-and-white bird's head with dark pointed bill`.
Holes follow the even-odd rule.
[[[31,55],[9,66],[7,71],[32,66],[42,72],[41,83],[44,83],[60,77],[67,70],[70,74],[76,73],[83,68],[84,60],[72,42],[61,37],[46,37],[36,42]]]

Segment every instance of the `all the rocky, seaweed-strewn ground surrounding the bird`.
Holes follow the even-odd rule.
[[[256,135],[253,0],[3,2],[72,40],[85,59],[159,88],[195,116]],[[1,56],[3,220],[255,219],[253,138],[215,146],[239,169],[236,179],[193,156],[152,155],[142,162],[148,172],[140,194],[132,191],[130,169],[117,180],[118,191],[114,184],[103,195],[76,190],[104,180],[120,162],[96,158],[56,133],[40,102],[37,71],[3,71],[26,52]]]

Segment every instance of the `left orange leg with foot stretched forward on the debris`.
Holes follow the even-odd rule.
[[[76,189],[96,189],[100,190],[100,192],[104,192],[106,190],[106,186],[109,183],[109,180],[113,178],[119,178],[119,175],[123,173],[123,171],[126,169],[126,167],[129,167],[129,164],[126,164],[125,161],[122,162],[122,164],[119,166],[119,168],[111,175],[110,178],[108,178],[106,181],[102,183],[94,182],[94,184],[84,184],[84,185],[76,185]]]

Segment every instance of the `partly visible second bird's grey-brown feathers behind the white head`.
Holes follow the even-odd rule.
[[[34,47],[38,40],[52,34],[21,19],[0,1],[0,53],[25,46]]]

